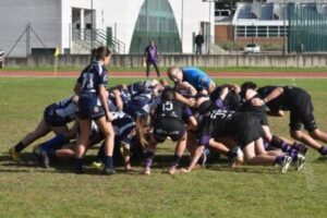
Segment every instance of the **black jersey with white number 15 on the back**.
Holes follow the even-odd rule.
[[[174,118],[185,122],[191,116],[191,109],[178,100],[162,101],[157,106],[156,110],[156,120]]]

